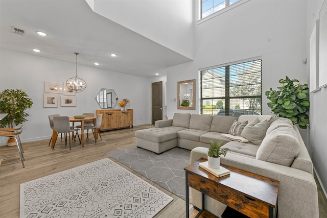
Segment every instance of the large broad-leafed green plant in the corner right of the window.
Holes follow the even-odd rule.
[[[307,129],[310,108],[308,84],[301,85],[299,80],[291,80],[288,77],[279,80],[279,83],[283,86],[277,87],[277,91],[270,88],[270,91],[265,93],[270,101],[268,107],[276,116],[289,118],[293,125]]]

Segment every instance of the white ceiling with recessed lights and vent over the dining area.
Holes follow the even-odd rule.
[[[25,35],[13,33],[13,27]],[[0,47],[71,63],[77,52],[78,64],[147,78],[191,61],[93,12],[84,0],[0,0]]]

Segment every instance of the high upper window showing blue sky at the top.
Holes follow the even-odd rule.
[[[200,19],[202,19],[240,0],[200,0],[200,1],[201,1]]]

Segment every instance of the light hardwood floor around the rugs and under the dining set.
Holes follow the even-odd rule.
[[[58,137],[54,150],[48,147],[50,139],[22,143],[26,159],[25,168],[22,168],[21,162],[6,165],[9,162],[19,161],[18,152],[15,147],[0,146],[0,158],[3,158],[0,166],[0,217],[19,217],[19,185],[21,183],[103,158],[110,158],[106,155],[107,152],[135,145],[134,132],[139,129],[144,129],[144,127],[102,132],[102,140],[99,137],[97,144],[95,144],[94,137],[90,133],[89,141],[85,140],[84,148],[80,147],[79,142],[72,141],[72,150],[69,150],[69,145],[64,145],[63,140],[60,142],[60,137]],[[51,130],[49,129],[50,134]],[[14,156],[9,157],[9,154],[14,154]],[[123,164],[120,165],[125,167]],[[185,217],[184,200],[136,172],[133,173],[174,198],[173,202],[155,217]],[[327,217],[327,200],[319,188],[320,186],[318,186],[319,217],[323,218]],[[191,210],[190,217],[195,217],[196,213],[196,210]]]

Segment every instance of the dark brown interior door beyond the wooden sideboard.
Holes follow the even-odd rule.
[[[151,83],[152,124],[162,119],[162,81]]]

